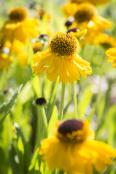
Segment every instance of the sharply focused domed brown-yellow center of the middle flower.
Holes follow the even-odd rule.
[[[78,40],[71,34],[56,34],[49,42],[49,49],[58,55],[73,55],[78,51]]]

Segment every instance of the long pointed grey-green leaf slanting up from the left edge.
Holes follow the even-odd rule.
[[[0,107],[0,123],[3,122],[3,120],[6,118],[6,116],[8,115],[8,113],[10,112],[11,108],[14,106],[14,104],[16,103],[16,99],[18,97],[18,94],[21,90],[23,85],[21,85],[19,87],[19,89],[14,93],[12,99],[7,102],[4,103],[1,107]]]

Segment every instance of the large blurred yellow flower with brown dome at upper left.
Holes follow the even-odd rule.
[[[4,40],[12,42],[14,39],[25,42],[29,38],[36,38],[40,34],[37,19],[29,19],[24,7],[11,9],[9,20],[1,30]]]

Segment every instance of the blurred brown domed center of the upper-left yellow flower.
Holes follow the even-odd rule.
[[[9,18],[15,21],[23,21],[28,17],[28,12],[24,7],[16,7],[9,12]]]

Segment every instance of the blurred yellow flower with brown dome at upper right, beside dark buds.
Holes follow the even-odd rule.
[[[70,28],[86,29],[85,37],[81,40],[81,45],[86,42],[95,44],[98,34],[107,28],[111,28],[112,23],[107,19],[98,16],[95,6],[90,3],[82,3],[78,5],[74,15],[74,22]],[[96,34],[97,33],[97,34]]]

